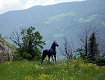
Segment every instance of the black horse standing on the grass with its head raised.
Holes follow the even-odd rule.
[[[56,41],[54,41],[52,43],[50,49],[46,49],[46,50],[43,51],[43,54],[42,54],[42,63],[43,63],[43,60],[45,59],[46,56],[48,56],[49,60],[50,60],[50,57],[52,57],[52,60],[53,60],[53,57],[54,57],[54,60],[56,61],[56,46],[58,47],[59,45],[56,43]]]

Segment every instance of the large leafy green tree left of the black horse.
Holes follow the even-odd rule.
[[[43,48],[45,41],[34,27],[23,29],[20,33],[15,32],[10,39],[18,46],[18,56],[23,59],[34,59],[40,57],[40,49]]]

